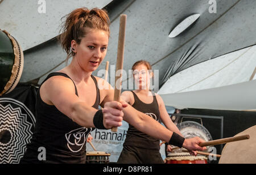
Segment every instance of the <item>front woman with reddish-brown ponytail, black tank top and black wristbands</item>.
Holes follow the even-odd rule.
[[[85,163],[90,131],[121,126],[123,119],[155,138],[166,142],[180,139],[179,145],[188,150],[203,150],[198,146],[201,140],[177,138],[125,101],[113,101],[110,84],[92,75],[108,48],[109,17],[105,10],[77,8],[65,17],[60,42],[67,60],[73,58],[64,69],[49,74],[39,87],[35,130],[20,163]],[[104,84],[109,88],[98,88]],[[102,109],[98,110],[98,105]]]

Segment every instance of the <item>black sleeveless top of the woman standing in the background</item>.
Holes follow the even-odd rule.
[[[151,104],[146,104],[143,103],[143,101],[139,100],[139,97],[136,95],[136,93],[133,92],[134,104],[132,106],[140,112],[145,113],[148,116],[151,116],[156,121],[159,121],[160,112],[158,101],[156,100],[154,92],[152,93],[154,98],[153,102]],[[152,136],[149,136],[147,134],[142,133],[141,131],[138,131],[137,129],[135,129],[133,125],[129,124],[129,129],[127,131],[126,139],[123,145],[145,148],[148,150],[160,150],[159,143],[160,141],[158,139],[155,139]]]

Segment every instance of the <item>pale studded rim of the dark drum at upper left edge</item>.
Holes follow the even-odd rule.
[[[11,76],[9,81],[6,83],[3,91],[0,92],[0,96],[1,96],[3,94],[13,91],[13,89],[17,86],[23,71],[24,55],[23,55],[22,49],[20,48],[20,45],[18,44],[18,41],[16,41],[16,39],[13,36],[11,36],[10,33],[8,33],[7,31],[2,29],[0,30],[9,37],[9,39],[11,40],[11,43],[13,44],[13,50],[14,50],[13,69],[11,70]]]

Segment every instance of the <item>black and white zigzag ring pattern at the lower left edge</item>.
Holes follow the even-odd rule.
[[[33,123],[27,121],[27,117],[20,107],[13,108],[11,104],[0,104],[0,132],[6,130],[11,134],[9,142],[0,142],[0,163],[19,163],[24,155],[26,144],[32,136],[33,126]]]

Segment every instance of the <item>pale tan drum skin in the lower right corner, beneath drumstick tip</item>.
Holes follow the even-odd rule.
[[[256,125],[238,135],[249,134],[250,139],[226,143],[221,152],[220,164],[256,164]]]

